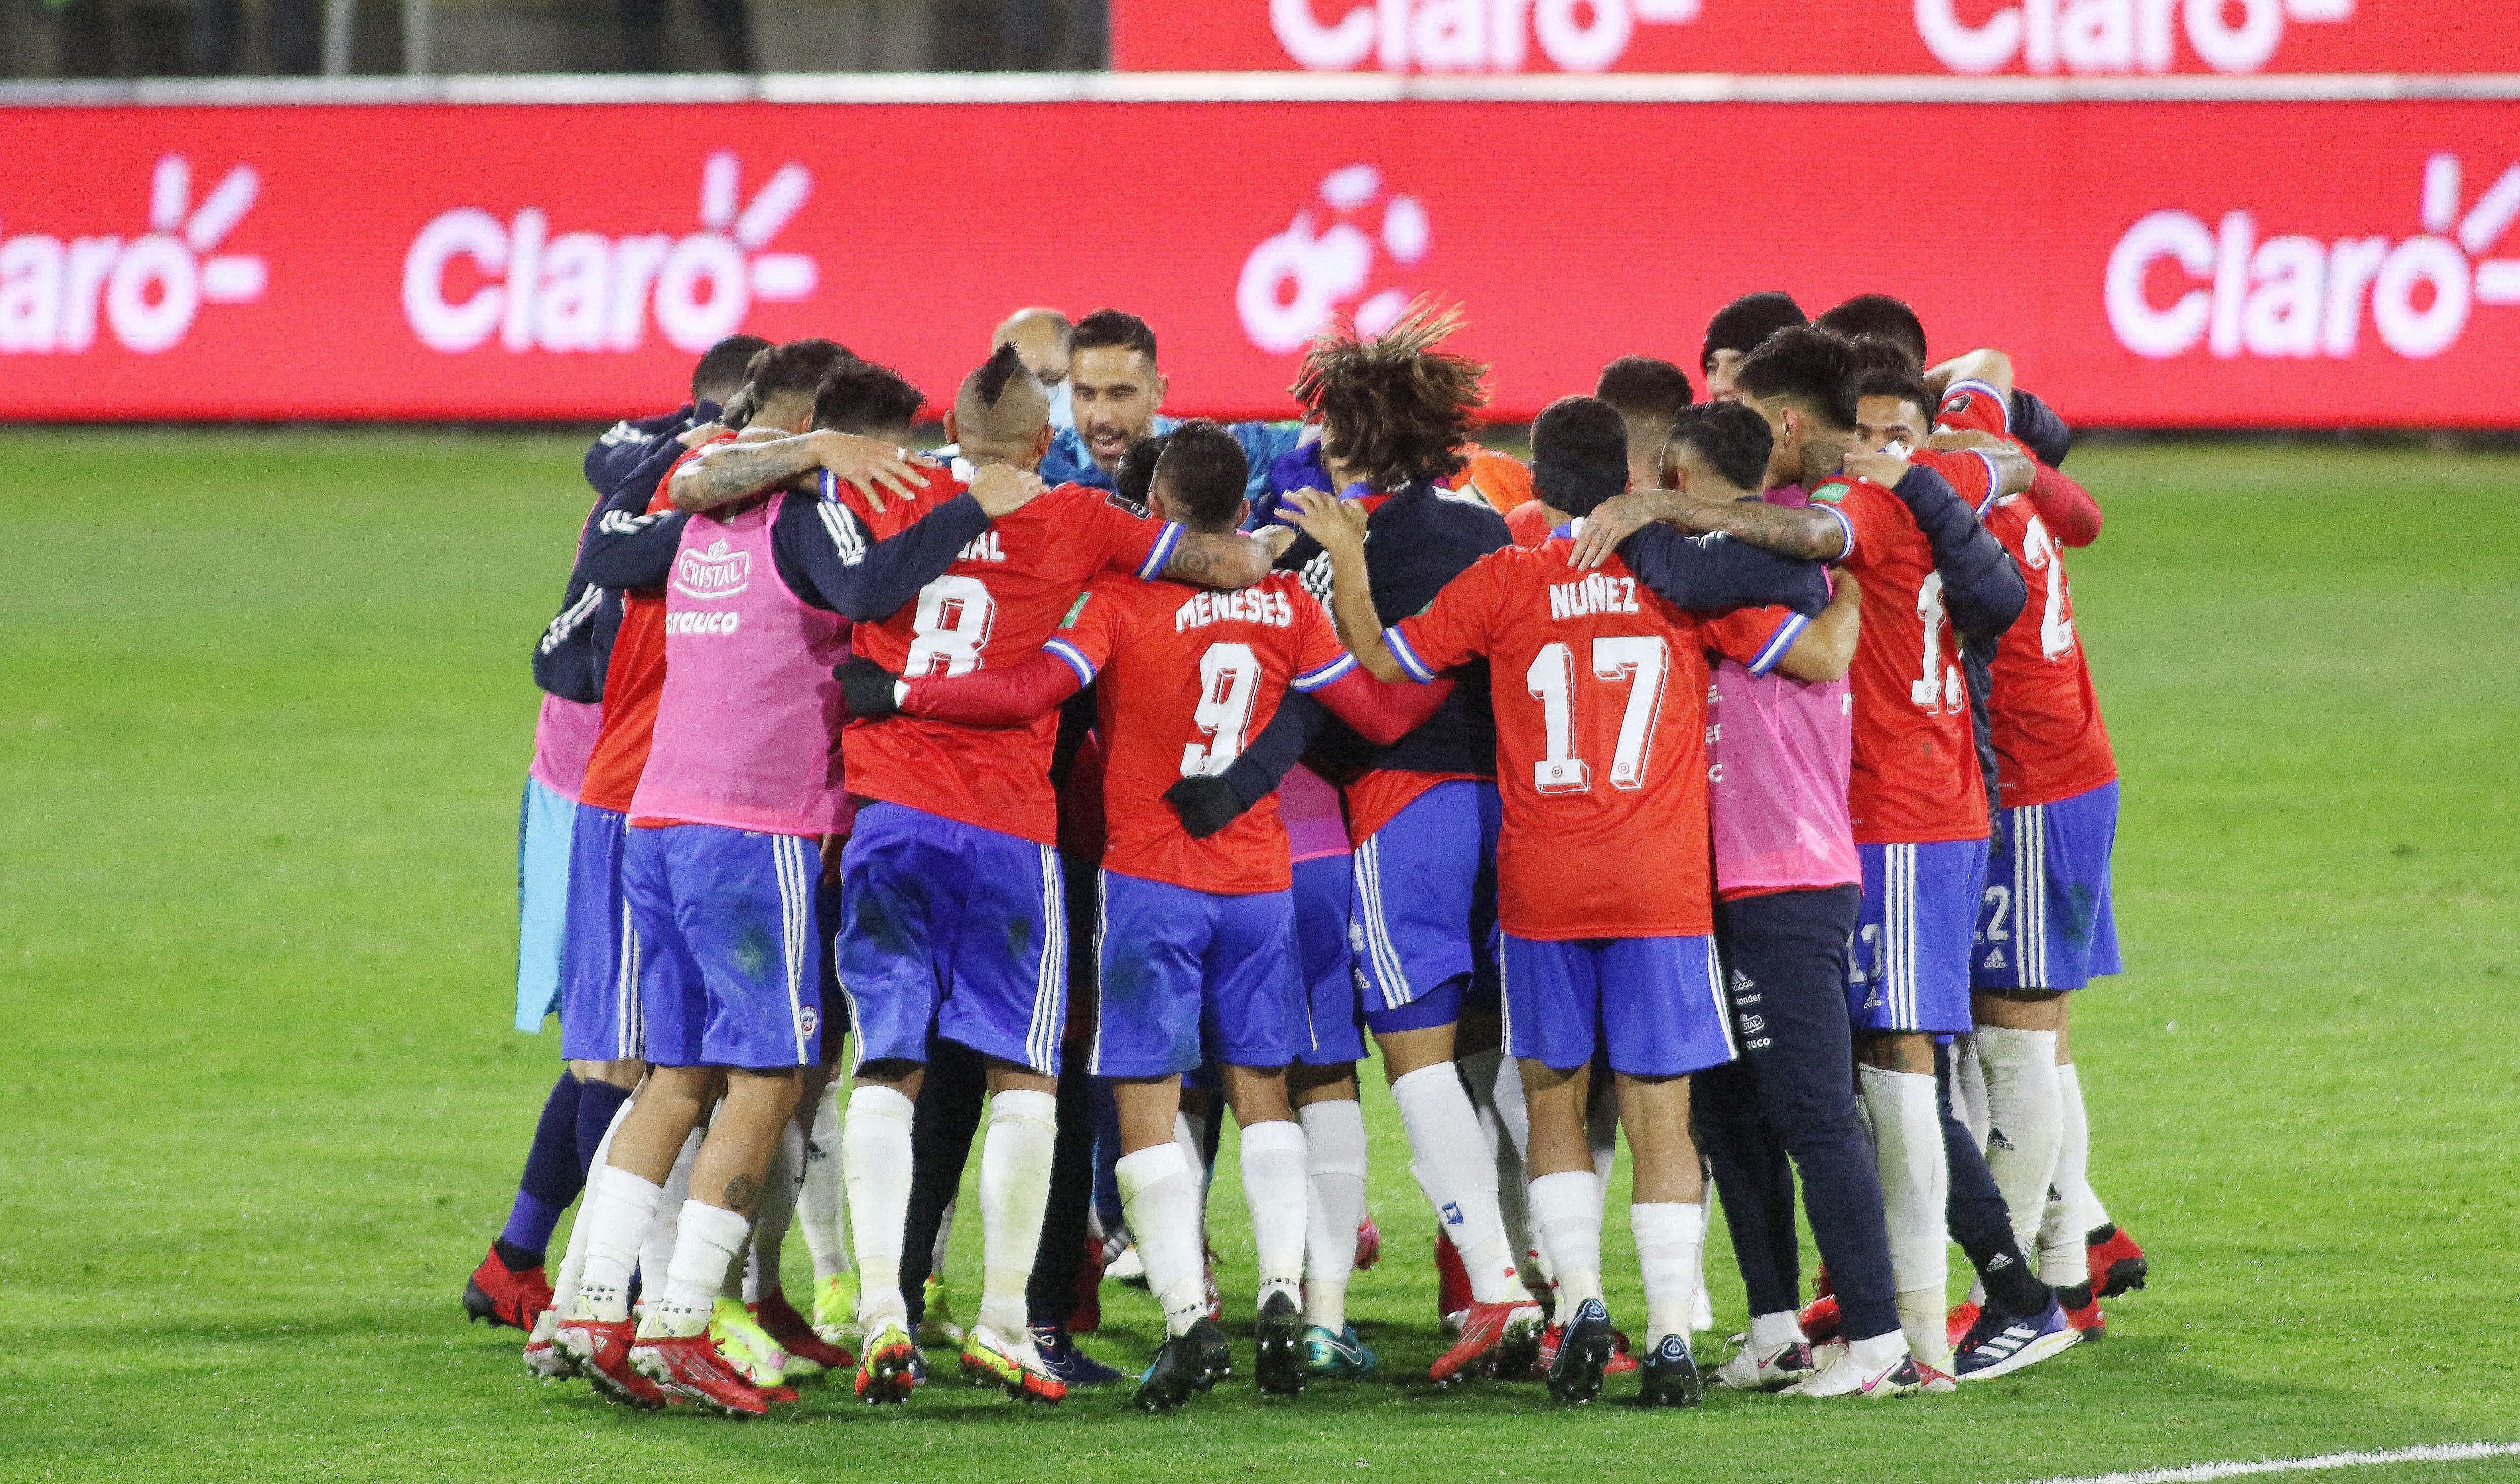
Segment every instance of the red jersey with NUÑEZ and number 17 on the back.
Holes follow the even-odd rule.
[[[1570,552],[1489,552],[1383,640],[1414,680],[1489,663],[1507,932],[1714,932],[1706,635],[1618,557],[1578,572]]]

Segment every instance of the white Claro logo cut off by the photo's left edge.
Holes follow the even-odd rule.
[[[262,260],[219,252],[260,194],[262,176],[239,164],[194,204],[192,161],[169,154],[149,179],[149,232],[0,239],[0,353],[86,350],[103,322],[126,350],[156,355],[202,305],[260,300]]]

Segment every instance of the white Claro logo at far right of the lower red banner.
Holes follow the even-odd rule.
[[[2520,164],[2465,212],[2460,197],[2460,156],[2434,154],[2424,161],[2424,229],[2397,242],[2298,232],[2260,239],[2255,212],[2223,212],[2218,224],[2150,212],[2109,254],[2109,330],[2152,358],[2197,343],[2213,355],[2344,358],[2361,345],[2369,307],[2389,350],[2439,355],[2467,330],[2475,305],[2520,305],[2520,260],[2485,260],[2520,217]]]

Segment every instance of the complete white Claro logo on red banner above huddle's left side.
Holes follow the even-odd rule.
[[[403,254],[403,320],[431,350],[635,350],[648,320],[683,350],[708,350],[743,328],[753,300],[814,295],[814,260],[764,252],[814,194],[784,164],[738,204],[731,151],[701,169],[701,229],[670,237],[562,232],[542,207],[501,222],[481,207],[436,214]],[[459,287],[461,285],[461,287]]]

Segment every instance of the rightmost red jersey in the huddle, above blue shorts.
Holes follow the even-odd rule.
[[[2013,494],[1986,511],[1986,529],[2021,564],[2029,602],[1996,640],[1988,728],[1996,789],[2006,809],[2054,804],[2117,779],[2109,728],[2099,721],[2092,665],[2074,635],[2074,590],[2064,547],[2029,499]]]

